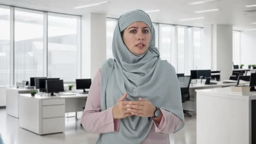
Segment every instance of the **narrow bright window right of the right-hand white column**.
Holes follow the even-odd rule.
[[[240,64],[240,31],[233,31],[233,63]]]

